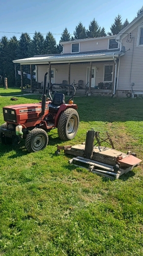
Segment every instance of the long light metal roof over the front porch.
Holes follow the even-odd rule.
[[[20,63],[21,65],[39,65],[39,64],[48,64],[52,63],[72,63],[72,62],[86,62],[86,61],[104,61],[112,60],[113,57],[118,58],[121,55],[121,52],[98,52],[98,53],[82,53],[82,54],[53,54],[53,55],[43,55],[40,57],[32,57],[25,59],[13,60],[14,63]],[[122,53],[123,55],[123,53]]]

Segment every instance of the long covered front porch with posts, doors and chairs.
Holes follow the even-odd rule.
[[[73,84],[76,95],[111,95],[115,94],[118,83],[118,62],[120,52],[104,52],[92,54],[69,55],[41,55],[34,58],[15,60],[21,66],[21,90],[23,90],[22,67],[30,64],[31,77],[32,65],[35,65],[36,82],[31,79],[31,92],[42,93],[44,75],[47,75],[46,87],[51,83]],[[50,60],[50,61],[49,61]],[[78,86],[81,81],[80,86]],[[61,88],[53,88],[53,92],[62,91]],[[67,90],[65,93],[67,93]]]

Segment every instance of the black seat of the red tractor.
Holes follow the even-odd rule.
[[[62,93],[55,93],[52,102],[49,104],[49,110],[58,110],[62,104],[65,103],[65,95]]]

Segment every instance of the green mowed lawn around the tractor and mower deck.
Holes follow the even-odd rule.
[[[1,95],[1,91],[0,91]],[[15,95],[15,94],[14,94]],[[38,95],[0,98],[2,107],[38,102]],[[117,150],[143,159],[143,99],[75,97],[79,130],[70,142],[49,133],[45,150],[0,145],[0,255],[143,255],[142,163],[119,180],[70,165],[56,145],[85,141],[88,130],[109,132]]]

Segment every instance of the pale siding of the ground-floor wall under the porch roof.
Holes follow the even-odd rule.
[[[110,62],[93,62],[92,66],[98,68],[96,71],[96,86],[98,86],[99,82],[103,82],[104,76],[104,65],[113,65],[113,61]],[[38,66],[38,82],[44,81],[44,75],[48,71],[48,65],[39,65]],[[78,83],[78,80],[82,80],[82,87],[84,88],[87,83],[87,68],[90,67],[90,63],[71,63],[70,66],[70,83]],[[61,65],[52,65],[51,69],[54,68],[57,70],[55,72],[55,83],[62,83],[63,80],[68,81],[68,64]],[[118,70],[118,68],[117,68]]]

